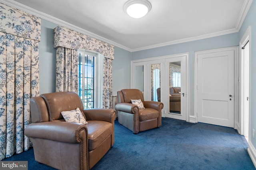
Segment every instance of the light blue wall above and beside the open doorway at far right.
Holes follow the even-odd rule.
[[[239,37],[240,39],[242,38],[242,36],[244,35],[246,29],[248,28],[248,26],[251,25],[251,31],[252,31],[252,37],[251,37],[251,58],[252,61],[250,63],[250,68],[251,68],[251,93],[250,93],[250,99],[251,99],[251,119],[250,119],[250,124],[251,124],[251,133],[250,135],[250,139],[251,139],[251,143],[254,146],[254,148],[256,148],[256,139],[252,138],[252,129],[256,130],[256,20],[255,20],[255,16],[256,16],[256,1],[254,0],[252,2],[252,5],[250,7],[250,10],[244,20],[244,23],[242,24],[242,27],[239,31]]]

